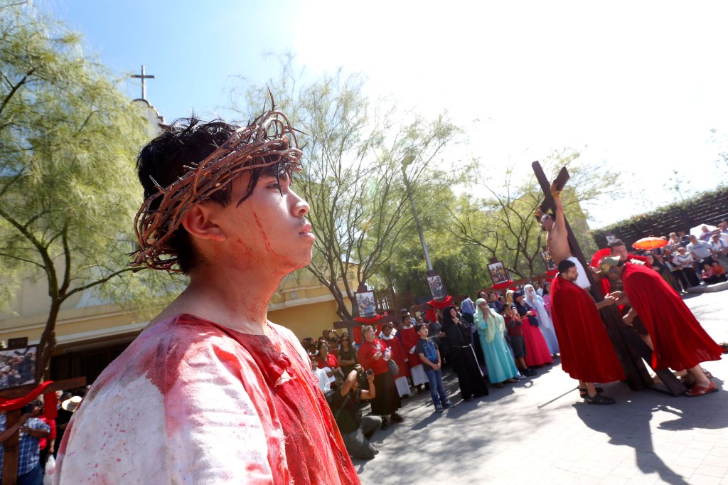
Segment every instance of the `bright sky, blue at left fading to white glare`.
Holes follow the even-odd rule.
[[[726,2],[50,0],[47,9],[115,71],[145,64],[157,76],[147,98],[167,120],[224,113],[230,76],[263,82],[278,73],[264,54],[289,51],[308,74],[343,66],[424,115],[448,110],[491,173],[530,171],[568,147],[585,163],[608,162],[629,195],[588,206],[593,227],[679,200],[670,178],[684,193],[728,181],[716,162],[728,146]],[[139,91],[129,84],[130,96]]]

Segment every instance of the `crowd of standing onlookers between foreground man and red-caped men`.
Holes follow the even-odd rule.
[[[534,283],[502,295],[481,292],[475,301],[438,309],[432,321],[402,309],[394,322],[363,326],[360,342],[333,329],[303,339],[352,457],[373,458],[371,435],[402,422],[397,410],[415,394],[429,390],[436,413],[451,408],[443,366],[455,374],[462,401],[473,401],[488,395],[487,383],[504,387],[554,363],[549,291],[550,283]],[[371,403],[369,417],[361,414],[364,401]]]

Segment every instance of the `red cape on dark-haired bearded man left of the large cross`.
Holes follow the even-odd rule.
[[[551,313],[563,371],[585,382],[626,379],[596,304],[586,290],[557,275],[551,283]]]

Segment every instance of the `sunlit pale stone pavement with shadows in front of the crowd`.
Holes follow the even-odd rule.
[[[728,291],[685,302],[716,342],[728,342]],[[367,485],[728,484],[728,355],[703,367],[719,392],[675,398],[604,385],[613,406],[583,403],[558,363],[470,403],[448,373],[456,406],[435,414],[429,392],[405,400],[405,422],[379,430],[380,453],[355,468]]]

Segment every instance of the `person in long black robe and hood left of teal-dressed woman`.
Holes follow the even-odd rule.
[[[475,351],[472,350],[472,331],[470,324],[460,320],[455,307],[443,310],[443,332],[446,334],[450,361],[457,374],[460,395],[464,401],[488,394],[483,382]]]

